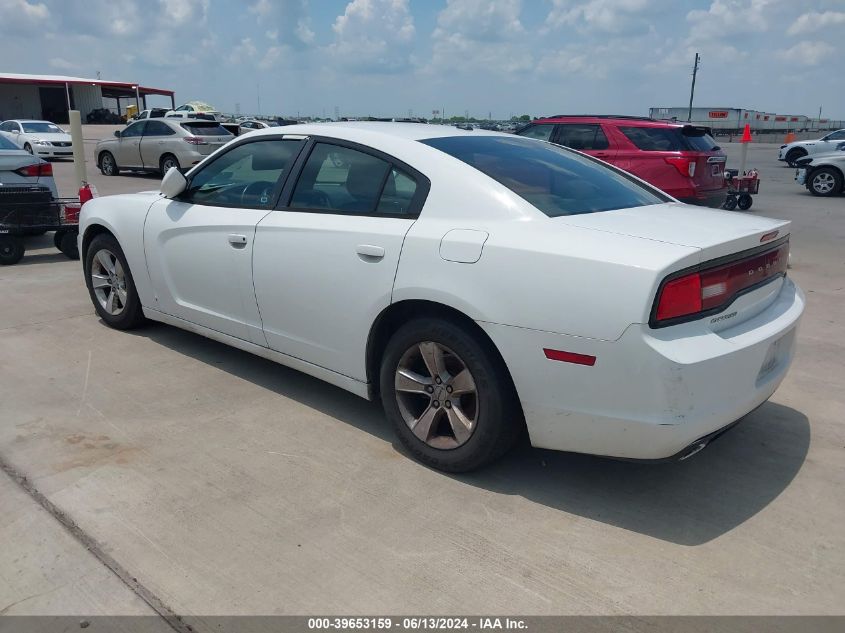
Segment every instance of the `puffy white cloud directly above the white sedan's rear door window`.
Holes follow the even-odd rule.
[[[407,68],[416,29],[408,0],[352,0],[332,25],[328,53],[336,65],[364,72]],[[313,38],[310,30],[307,36]]]

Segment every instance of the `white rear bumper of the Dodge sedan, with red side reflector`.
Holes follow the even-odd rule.
[[[786,375],[804,295],[789,279],[773,283],[777,292],[748,293],[722,315],[659,330],[633,324],[616,341],[480,325],[508,365],[534,446],[680,458],[768,400]],[[728,321],[712,319],[755,301],[765,303],[756,316],[714,331]],[[545,349],[595,363],[549,360]]]

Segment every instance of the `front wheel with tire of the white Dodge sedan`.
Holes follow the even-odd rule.
[[[85,252],[85,285],[94,309],[107,325],[131,330],[145,321],[132,271],[117,240],[97,235]]]

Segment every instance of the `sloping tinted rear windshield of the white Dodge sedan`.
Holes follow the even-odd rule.
[[[542,141],[515,136],[447,136],[422,142],[487,174],[549,217],[669,200],[598,160]]]

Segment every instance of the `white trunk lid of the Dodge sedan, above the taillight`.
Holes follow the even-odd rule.
[[[701,262],[789,235],[790,222],[670,202],[553,218],[554,222],[701,250]],[[777,231],[774,237],[768,237]],[[767,236],[765,242],[761,241]]]

